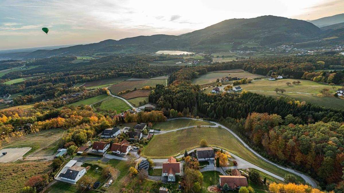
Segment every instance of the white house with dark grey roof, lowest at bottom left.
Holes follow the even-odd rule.
[[[76,184],[86,173],[86,168],[78,166],[79,164],[76,163],[76,160],[69,161],[55,177],[55,180]]]

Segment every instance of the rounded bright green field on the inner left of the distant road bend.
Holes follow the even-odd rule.
[[[94,107],[97,111],[104,112],[104,113],[114,112],[114,111],[117,111],[117,113],[119,113],[128,109],[131,109],[130,106],[127,105],[127,103],[125,103],[124,101],[116,97],[112,97],[105,101],[96,103],[94,104]]]

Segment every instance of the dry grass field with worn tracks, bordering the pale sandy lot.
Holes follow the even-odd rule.
[[[25,154],[35,156],[53,155],[58,149],[58,144],[62,138],[64,130],[49,129],[34,134],[29,134],[12,141],[1,141],[2,147],[31,147],[32,149]]]

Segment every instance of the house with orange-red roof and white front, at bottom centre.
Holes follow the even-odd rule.
[[[162,182],[175,182],[175,176],[181,175],[183,170],[183,164],[177,162],[174,157],[170,157],[167,162],[162,163]]]

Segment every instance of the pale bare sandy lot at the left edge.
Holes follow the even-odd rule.
[[[26,152],[30,151],[31,147],[21,147],[21,148],[4,148],[0,150],[0,162],[14,162],[21,159]],[[7,152],[3,155],[3,152]]]

